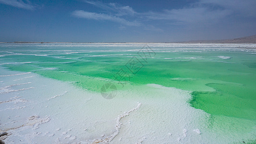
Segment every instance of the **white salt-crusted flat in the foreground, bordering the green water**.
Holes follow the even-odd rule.
[[[34,87],[0,94],[0,101],[6,101],[0,104],[1,131],[11,133],[4,140],[7,144],[91,144],[100,139],[102,143],[112,144],[212,144],[251,138],[251,134],[239,131],[209,130],[210,115],[189,106],[189,91],[146,84],[119,91],[118,96],[106,100],[98,93],[35,73],[21,75],[22,72],[2,67],[0,71],[2,75],[9,75],[0,77],[0,87],[15,84],[19,84],[15,87],[19,89]],[[19,81],[13,81],[17,79]],[[242,121],[232,119],[232,122]],[[105,141],[107,139],[111,141]]]

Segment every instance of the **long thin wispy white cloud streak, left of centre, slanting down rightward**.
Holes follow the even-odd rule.
[[[110,14],[105,14],[105,13],[95,13],[95,12],[85,12],[85,11],[74,11],[72,13],[73,16],[78,17],[78,18],[85,18],[85,19],[94,19],[94,20],[109,20],[109,21],[114,21],[117,23],[125,24],[128,26],[139,26],[140,23],[134,21],[130,22],[127,21],[123,18],[113,16]]]

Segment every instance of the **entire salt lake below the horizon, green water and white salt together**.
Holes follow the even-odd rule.
[[[24,110],[15,123],[50,115],[54,118],[40,125],[58,129],[65,124],[70,133],[75,130],[66,139],[59,131],[49,132],[54,143],[106,142],[112,132],[118,134],[110,143],[253,143],[255,63],[255,44],[0,44],[0,100],[5,101],[0,112],[6,117],[0,120],[7,123],[1,130],[10,129],[14,120],[7,111]],[[100,92],[109,83],[117,91],[108,100]],[[39,89],[40,84],[47,88]],[[15,96],[25,99],[13,100],[24,108],[6,102]],[[141,107],[122,118],[116,130],[115,119],[137,102]],[[58,109],[62,104],[64,109]],[[34,114],[27,112],[29,107]],[[33,127],[19,131],[42,132],[30,138],[33,142],[49,135],[43,134],[47,126]],[[12,133],[8,142],[16,140],[17,131]]]

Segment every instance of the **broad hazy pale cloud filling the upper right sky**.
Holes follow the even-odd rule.
[[[182,9],[145,12],[146,20],[165,20],[172,24],[198,24],[227,22],[256,17],[256,0],[199,0]]]

